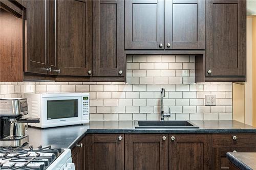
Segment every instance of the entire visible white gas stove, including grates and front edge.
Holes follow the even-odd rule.
[[[67,167],[68,166],[68,167]],[[0,147],[0,169],[74,170],[70,149]]]

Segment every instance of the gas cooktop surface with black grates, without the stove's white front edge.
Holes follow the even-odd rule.
[[[65,150],[66,149],[52,149],[51,145],[47,147],[40,145],[37,149],[33,149],[32,146],[29,146],[28,149],[24,149],[22,146],[17,148],[0,147],[0,169],[49,169],[48,167],[53,164]]]

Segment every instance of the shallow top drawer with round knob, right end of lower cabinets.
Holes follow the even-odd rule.
[[[256,147],[255,134],[212,134],[212,147]]]

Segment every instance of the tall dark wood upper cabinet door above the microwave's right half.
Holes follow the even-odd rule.
[[[61,76],[89,76],[91,1],[57,1],[57,59]]]

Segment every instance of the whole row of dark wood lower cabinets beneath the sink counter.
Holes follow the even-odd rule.
[[[220,170],[232,169],[227,152],[255,147],[252,133],[87,134],[72,149],[72,160],[76,170]]]

